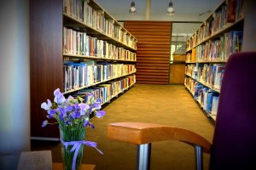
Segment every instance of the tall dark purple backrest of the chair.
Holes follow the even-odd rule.
[[[232,54],[218,103],[210,169],[256,169],[256,53]]]

